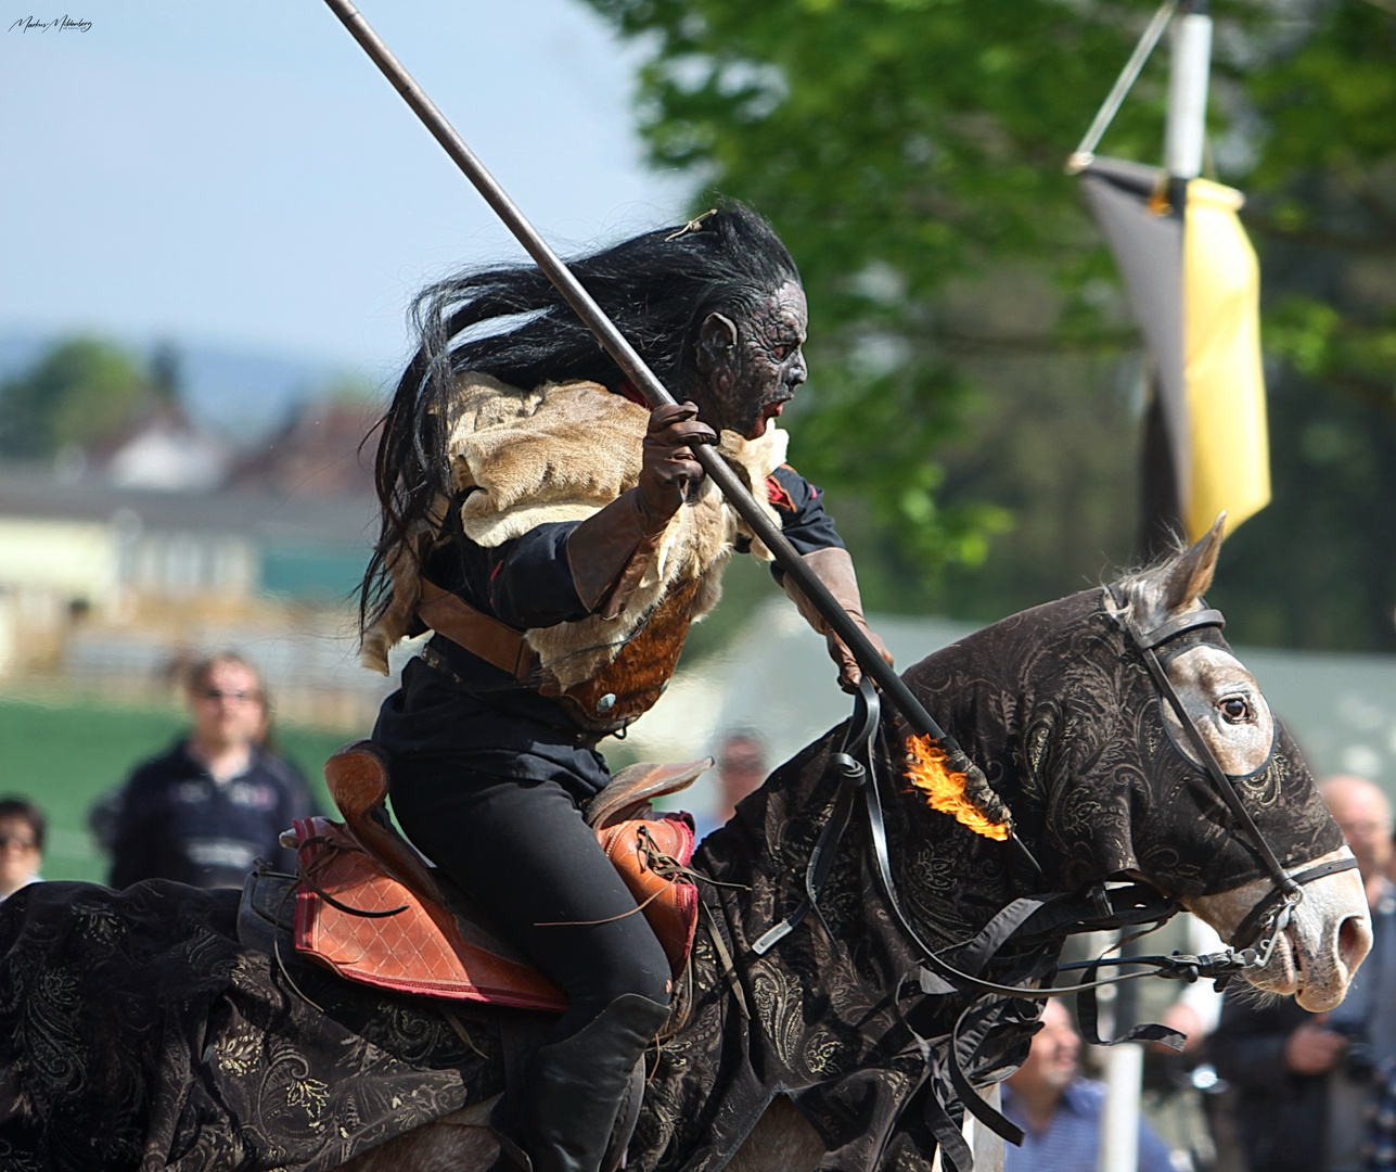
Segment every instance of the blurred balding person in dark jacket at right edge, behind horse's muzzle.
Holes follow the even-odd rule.
[[[1249,1172],[1356,1172],[1372,1071],[1396,1059],[1390,803],[1360,777],[1332,777],[1321,792],[1357,856],[1372,951],[1332,1013],[1305,1013],[1289,997],[1256,1006],[1254,995],[1227,993],[1210,1046],[1217,1071],[1240,1088],[1237,1126]]]

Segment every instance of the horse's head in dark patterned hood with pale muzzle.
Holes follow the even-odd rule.
[[[1222,637],[1220,616],[1201,601],[1220,543],[1219,521],[1194,548],[995,623],[906,679],[984,768],[1043,866],[1039,883],[1072,891],[1110,877],[1143,879],[1244,947],[1251,940],[1238,932],[1251,935],[1251,912],[1276,891],[1280,869],[1294,876],[1351,852],[1294,740]],[[1277,866],[1219,792],[1131,631],[1160,633],[1156,669]],[[946,835],[927,817],[913,816],[920,827],[912,838],[944,845],[912,848],[923,873],[979,867],[984,880],[1012,867],[1007,847],[980,838],[966,852],[963,831]],[[944,814],[934,817],[944,823]],[[959,858],[938,858],[953,840],[962,842]],[[986,887],[1007,888],[997,898],[1013,894],[1011,883]],[[1356,870],[1301,890],[1287,925],[1276,926],[1283,932],[1268,962],[1245,975],[1321,1011],[1343,999],[1371,947],[1371,922]]]

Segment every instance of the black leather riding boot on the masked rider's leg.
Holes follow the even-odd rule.
[[[581,1032],[533,1055],[519,1127],[533,1172],[596,1172],[631,1071],[667,1020],[669,1006],[627,993]]]

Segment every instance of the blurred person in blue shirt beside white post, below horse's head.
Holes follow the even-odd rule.
[[[1106,1087],[1081,1077],[1081,1035],[1060,1000],[1043,1006],[1027,1060],[1004,1081],[1004,1113],[1023,1129],[1004,1172],[1092,1172],[1100,1155]],[[1139,1119],[1139,1172],[1173,1172],[1168,1148]]]

